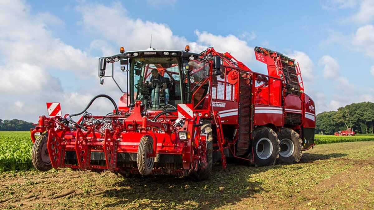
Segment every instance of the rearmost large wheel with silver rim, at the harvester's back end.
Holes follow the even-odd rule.
[[[281,128],[277,134],[281,147],[277,162],[281,164],[298,163],[301,156],[303,156],[303,154],[301,154],[303,141],[300,139],[298,133],[289,128]]]

